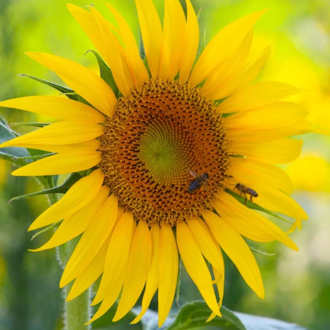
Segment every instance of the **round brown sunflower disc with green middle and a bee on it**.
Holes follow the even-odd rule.
[[[118,100],[100,137],[100,166],[136,220],[167,222],[212,210],[229,164],[222,118],[199,88],[151,80]]]

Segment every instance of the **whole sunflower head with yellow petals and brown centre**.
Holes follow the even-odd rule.
[[[269,48],[250,54],[252,26],[265,10],[223,28],[196,58],[199,27],[189,0],[186,16],[179,1],[165,0],[163,25],[151,0],[135,2],[145,58],[113,6],[108,5],[117,26],[93,7],[68,5],[111,68],[114,84],[69,59],[27,53],[86,102],[65,96],[1,102],[60,120],[1,147],[55,153],[15,170],[16,176],[88,170],[29,230],[63,219],[36,251],[82,234],[60,287],[74,280],[67,297],[71,300],[102,274],[92,305],[102,303],[89,322],[119,295],[113,320],[122,318],[145,287],[142,311],[132,323],[141,319],[158,290],[161,326],[175,295],[179,253],[212,311],[211,319],[220,316],[222,251],[264,298],[260,271],[243,237],[277,240],[298,250],[277,225],[251,208],[307,218],[288,196],[288,176],[273,165],[300,154],[302,141],[288,136],[308,127],[307,111],[282,101],[299,89],[280,82],[252,83],[269,54]]]

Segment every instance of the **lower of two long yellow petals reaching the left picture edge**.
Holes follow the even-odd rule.
[[[104,127],[88,121],[58,121],[56,123],[39,128],[8,140],[0,145],[0,148],[15,146],[25,147],[25,144],[76,144],[99,137],[104,132]]]

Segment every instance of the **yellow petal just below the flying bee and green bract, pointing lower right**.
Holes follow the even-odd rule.
[[[223,192],[212,202],[216,212],[241,235],[256,242],[277,240],[298,251],[292,240],[272,221],[250,210],[233,196]]]

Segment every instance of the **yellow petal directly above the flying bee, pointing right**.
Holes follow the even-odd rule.
[[[245,182],[245,185],[248,184],[252,188],[257,184],[277,188],[287,194],[293,191],[289,176],[279,167],[248,158],[233,157],[228,175],[234,177],[236,183]]]

